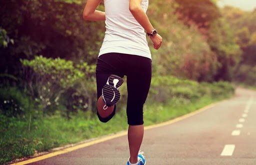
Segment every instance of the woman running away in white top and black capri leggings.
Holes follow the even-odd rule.
[[[105,36],[96,63],[97,115],[107,122],[115,113],[122,77],[127,77],[129,164],[145,164],[139,148],[142,142],[143,104],[151,81],[151,53],[146,34],[158,49],[162,37],[150,23],[148,0],[103,0],[105,12],[96,10],[102,0],[87,0],[85,20],[105,20]]]

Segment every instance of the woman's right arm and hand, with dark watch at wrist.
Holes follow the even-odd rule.
[[[146,13],[140,6],[141,1],[142,0],[130,0],[129,10],[138,23],[146,30],[146,32],[151,33],[153,26],[150,23]],[[150,36],[150,39],[152,40],[155,49],[158,49],[161,46],[162,37],[159,34]]]

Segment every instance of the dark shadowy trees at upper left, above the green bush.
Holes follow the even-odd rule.
[[[0,26],[15,40],[0,47],[1,73],[22,77],[19,59],[35,54],[95,63],[104,22],[82,20],[84,1],[1,0],[0,6]]]

